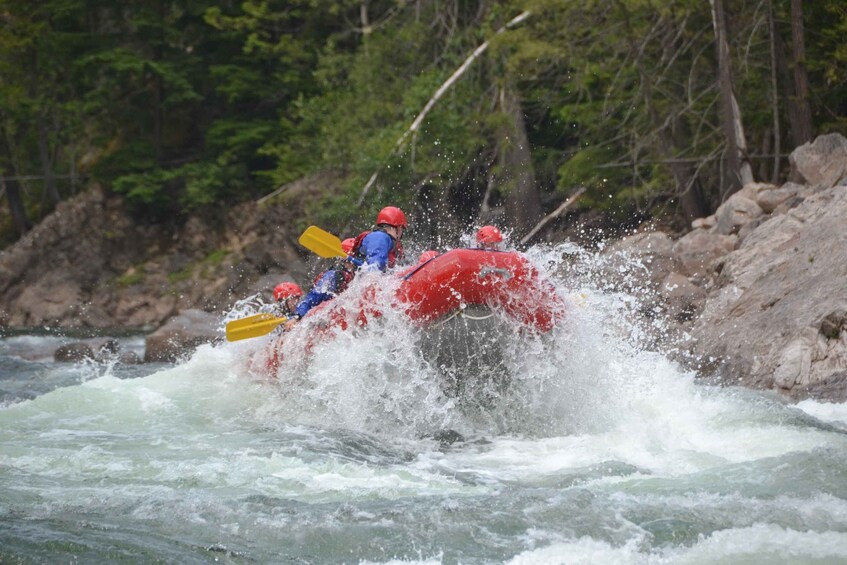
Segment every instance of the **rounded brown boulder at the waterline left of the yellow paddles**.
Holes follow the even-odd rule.
[[[144,361],[177,361],[197,346],[220,336],[219,316],[202,310],[184,310],[147,336]]]

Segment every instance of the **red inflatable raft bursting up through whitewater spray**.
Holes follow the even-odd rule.
[[[267,369],[275,372],[278,368],[284,342],[287,351],[295,345],[291,341],[309,351],[336,331],[366,326],[381,317],[386,307],[401,309],[411,323],[424,328],[469,307],[482,307],[541,333],[550,331],[564,314],[552,283],[516,252],[454,249],[396,276],[400,282],[390,306],[378,304],[376,289],[366,286],[364,290],[360,287],[361,296],[354,300],[345,295],[344,300],[312,309],[292,335],[271,344],[264,356]],[[351,292],[352,288],[346,294]]]

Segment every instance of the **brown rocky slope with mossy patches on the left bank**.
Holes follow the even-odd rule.
[[[304,179],[274,201],[246,203],[180,225],[146,224],[94,188],[62,202],[0,252],[0,325],[154,329],[179,312],[222,312],[264,290],[261,277],[306,275],[297,245]]]

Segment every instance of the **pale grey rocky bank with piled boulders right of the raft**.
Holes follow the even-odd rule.
[[[660,232],[609,252],[651,259],[634,283],[656,291],[642,311],[664,312],[695,358],[717,360],[711,368],[725,382],[843,400],[847,139],[822,136],[790,161],[792,182],[745,186],[670,253]]]

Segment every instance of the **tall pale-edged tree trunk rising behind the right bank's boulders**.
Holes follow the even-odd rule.
[[[710,0],[712,5],[712,24],[715,28],[715,42],[718,56],[718,86],[721,93],[723,127],[727,142],[726,185],[721,192],[724,196],[732,194],[743,185],[753,182],[753,168],[747,157],[747,140],[741,122],[741,110],[735,99],[732,84],[732,67],[729,57],[726,14],[723,0]]]

